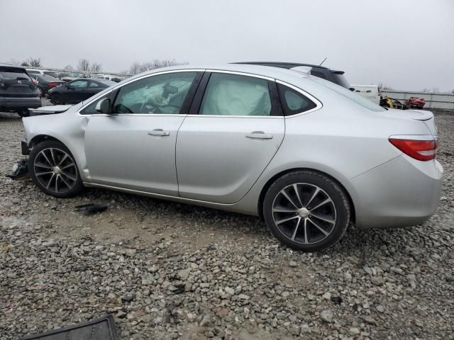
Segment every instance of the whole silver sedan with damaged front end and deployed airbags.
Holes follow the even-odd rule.
[[[155,69],[32,115],[23,150],[44,193],[92,186],[258,215],[304,251],[350,223],[420,224],[441,195],[432,113],[385,110],[286,69]]]

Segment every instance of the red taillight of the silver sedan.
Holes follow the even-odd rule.
[[[435,158],[438,142],[433,140],[411,140],[404,137],[389,137],[394,147],[419,161],[430,161]]]

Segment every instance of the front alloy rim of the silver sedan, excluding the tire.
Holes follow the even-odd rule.
[[[42,149],[35,157],[33,168],[39,183],[53,193],[65,193],[76,184],[76,163],[61,149]]]

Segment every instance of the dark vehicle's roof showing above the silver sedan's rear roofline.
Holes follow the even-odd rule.
[[[323,67],[320,65],[301,64],[297,62],[236,62],[235,64],[253,64],[280,67],[282,69],[292,69],[297,72],[311,74],[314,77],[326,79],[333,82],[334,84],[345,87],[345,89],[350,88],[350,85],[348,84],[348,81],[344,76],[345,72],[328,69],[328,67]]]

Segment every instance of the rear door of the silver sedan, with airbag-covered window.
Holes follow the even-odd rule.
[[[179,128],[179,195],[236,203],[276,154],[284,118],[274,79],[206,72]]]

